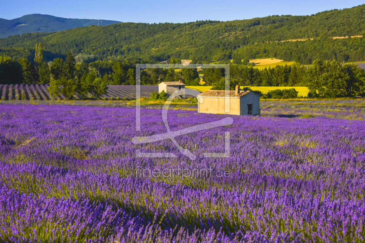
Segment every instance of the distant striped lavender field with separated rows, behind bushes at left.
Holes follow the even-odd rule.
[[[1,100],[49,100],[49,85],[0,85]],[[149,97],[157,86],[141,86],[141,96]],[[135,98],[135,86],[130,85],[108,85],[108,93],[102,95],[105,99],[133,99]],[[57,99],[64,99],[60,94]],[[77,95],[73,96],[78,99]]]

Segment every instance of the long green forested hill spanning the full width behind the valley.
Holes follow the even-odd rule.
[[[54,54],[82,54],[100,59],[165,60],[173,56],[193,62],[276,57],[303,64],[316,58],[364,60],[365,39],[332,39],[365,34],[365,5],[333,9],[311,16],[268,16],[235,21],[191,23],[118,23],[57,33],[24,34],[0,39],[0,54],[8,48],[43,48]],[[311,40],[311,38],[313,40]],[[307,39],[303,41],[286,41]],[[284,41],[284,42],[282,42]],[[13,51],[14,52],[14,51]]]

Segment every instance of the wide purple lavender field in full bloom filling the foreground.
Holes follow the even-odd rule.
[[[191,160],[170,140],[132,143],[166,132],[161,110],[136,131],[127,107],[0,107],[2,242],[364,242],[365,121],[232,115],[176,137]],[[224,117],[168,112],[172,131]],[[229,157],[204,157],[225,132]]]

